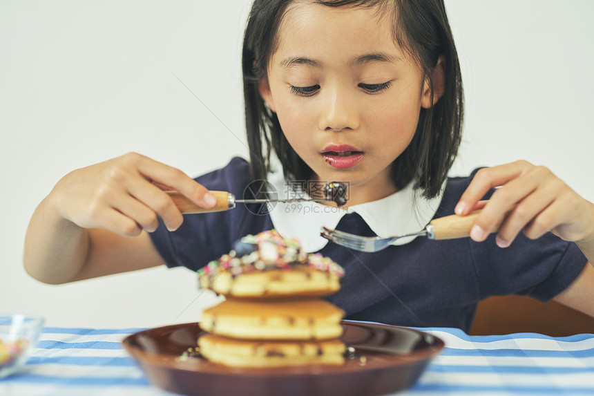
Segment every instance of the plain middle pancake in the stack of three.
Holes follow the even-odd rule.
[[[228,299],[202,312],[200,327],[238,339],[340,337],[344,311],[320,299]]]

